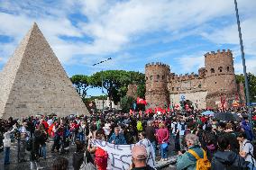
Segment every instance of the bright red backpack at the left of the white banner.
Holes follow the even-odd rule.
[[[99,148],[99,147],[96,148],[95,164],[97,166],[97,169],[99,169],[99,170],[105,170],[106,169],[107,157],[108,157],[108,154],[104,149]]]

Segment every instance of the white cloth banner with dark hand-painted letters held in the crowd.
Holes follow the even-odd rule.
[[[114,145],[102,140],[91,140],[95,147],[104,149],[108,154],[107,169],[128,170],[132,164],[132,145]],[[148,139],[138,142],[136,145],[143,145],[148,153],[147,165],[155,167],[155,153]]]

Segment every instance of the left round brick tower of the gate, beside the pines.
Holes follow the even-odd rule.
[[[150,107],[166,107],[169,104],[168,78],[169,66],[160,62],[147,64],[146,76],[146,101]]]

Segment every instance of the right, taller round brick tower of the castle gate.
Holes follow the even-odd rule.
[[[206,53],[206,105],[218,105],[220,99],[232,103],[237,94],[237,85],[233,70],[233,54],[231,50],[217,50]]]

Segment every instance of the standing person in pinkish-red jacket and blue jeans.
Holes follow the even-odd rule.
[[[162,161],[168,160],[168,145],[169,145],[169,130],[165,127],[164,123],[160,123],[157,132],[157,139],[160,144],[160,155]]]

